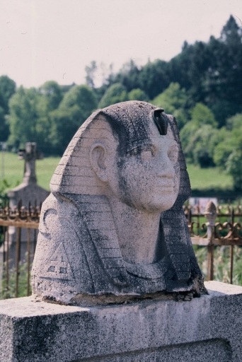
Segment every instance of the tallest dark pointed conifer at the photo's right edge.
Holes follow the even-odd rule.
[[[207,47],[207,102],[219,114],[217,119],[223,126],[226,117],[242,111],[242,30],[233,16],[224,25],[219,39],[211,37]]]

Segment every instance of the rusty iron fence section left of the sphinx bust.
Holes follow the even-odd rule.
[[[29,296],[40,206],[0,208],[0,298]]]

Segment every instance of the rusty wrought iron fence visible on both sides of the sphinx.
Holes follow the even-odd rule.
[[[21,203],[0,208],[0,298],[29,296],[30,271],[35,253],[40,206]],[[214,249],[230,248],[229,281],[233,283],[234,247],[242,246],[242,206],[223,209],[209,202],[203,213],[184,206],[192,244],[207,249],[207,280],[214,279]],[[241,253],[242,256],[242,253]],[[242,265],[242,261],[241,261]],[[242,270],[241,270],[242,275]]]

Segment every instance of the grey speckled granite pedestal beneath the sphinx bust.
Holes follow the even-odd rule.
[[[209,296],[72,307],[0,301],[0,361],[242,361],[242,287],[206,283]]]

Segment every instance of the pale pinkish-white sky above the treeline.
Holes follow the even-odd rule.
[[[183,42],[219,37],[241,0],[0,0],[0,75],[17,86],[85,83],[85,66],[170,60]],[[100,64],[104,64],[100,66]]]

